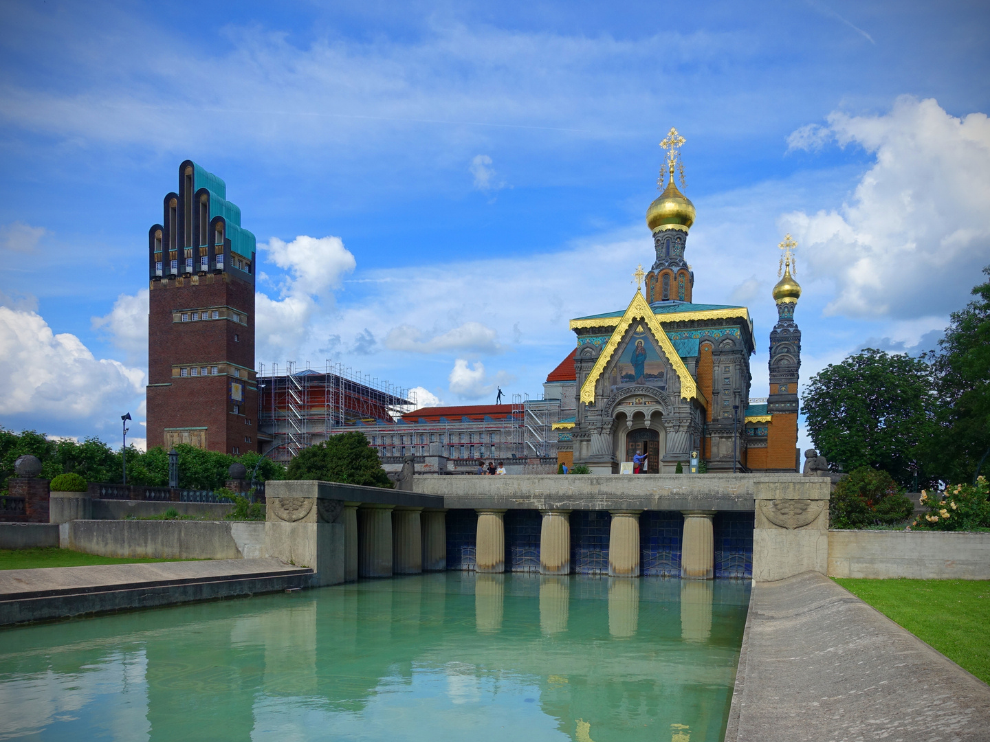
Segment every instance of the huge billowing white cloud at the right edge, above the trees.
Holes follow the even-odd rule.
[[[780,220],[813,277],[835,281],[827,314],[912,318],[955,309],[990,263],[987,117],[960,119],[935,100],[902,97],[887,114],[834,113],[829,126],[841,145],[875,153],[875,164],[841,209]]]

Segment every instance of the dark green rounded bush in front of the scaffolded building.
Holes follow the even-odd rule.
[[[289,464],[286,479],[392,487],[378,454],[357,431],[331,435],[322,443],[302,449]]]

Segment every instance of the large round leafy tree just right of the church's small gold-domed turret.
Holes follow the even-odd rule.
[[[936,431],[938,400],[923,359],[864,348],[813,376],[802,397],[815,446],[846,471],[882,469],[905,487],[938,479],[921,446]]]

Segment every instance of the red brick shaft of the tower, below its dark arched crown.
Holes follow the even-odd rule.
[[[231,320],[172,322],[173,310],[205,307],[231,307],[247,316],[247,325]],[[257,450],[253,374],[250,381],[229,375],[172,376],[176,364],[191,367],[219,363],[254,368],[253,286],[229,273],[197,276],[195,281],[191,276],[152,281],[148,314],[149,447],[164,445],[165,428],[205,426],[206,447],[211,450]],[[245,399],[240,403],[239,415],[233,414],[231,381],[244,385]]]

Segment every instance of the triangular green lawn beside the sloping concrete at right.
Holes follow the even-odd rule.
[[[990,683],[990,581],[836,582],[984,683]]]

